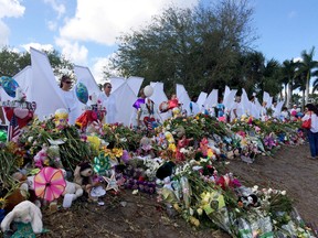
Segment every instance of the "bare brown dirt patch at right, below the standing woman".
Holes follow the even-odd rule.
[[[309,144],[285,145],[272,158],[256,158],[251,165],[231,161],[227,167],[244,185],[285,190],[301,218],[318,225],[318,160],[307,159],[309,154]]]

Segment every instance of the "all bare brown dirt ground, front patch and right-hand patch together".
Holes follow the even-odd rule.
[[[256,158],[253,164],[233,160],[227,170],[244,185],[286,190],[306,223],[318,224],[318,161],[306,159],[309,145],[283,147],[273,156]],[[41,237],[229,237],[221,230],[195,230],[180,216],[169,216],[156,195],[121,191],[107,194],[105,205],[75,202],[68,209],[43,213]]]

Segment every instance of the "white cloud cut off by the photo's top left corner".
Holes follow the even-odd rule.
[[[18,0],[0,0],[0,19],[19,18],[23,15],[25,8]]]

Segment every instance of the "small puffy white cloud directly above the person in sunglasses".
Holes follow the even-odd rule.
[[[55,43],[62,48],[61,53],[66,60],[78,65],[86,64],[88,50],[84,45],[65,39],[56,39]]]

